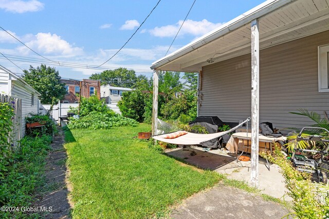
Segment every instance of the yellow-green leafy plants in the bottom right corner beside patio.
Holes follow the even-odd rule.
[[[329,188],[312,183],[310,175],[297,171],[281,152],[279,143],[275,144],[273,153],[261,151],[260,155],[271,163],[281,167],[285,178],[288,195],[293,198],[294,215],[298,218],[328,218]]]

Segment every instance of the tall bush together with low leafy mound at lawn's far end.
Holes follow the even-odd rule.
[[[70,110],[78,114],[78,109]],[[80,118],[70,117],[68,128],[109,129],[115,126],[136,126],[138,123],[132,118],[124,117],[109,109],[103,99],[96,95],[81,98]]]

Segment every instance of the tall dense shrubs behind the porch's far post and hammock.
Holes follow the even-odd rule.
[[[197,75],[185,73],[180,81],[179,72],[159,72],[158,116],[163,120],[177,120],[186,115],[191,120],[196,117],[197,109]],[[123,93],[118,103],[122,115],[134,118],[138,122],[151,123],[152,93],[142,90],[153,90],[152,81],[143,78],[135,87],[136,90]],[[191,121],[190,120],[190,121]],[[189,122],[190,122],[189,121]]]

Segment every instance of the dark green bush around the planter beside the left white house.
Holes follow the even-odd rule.
[[[48,115],[42,115],[41,113],[30,113],[29,116],[25,117],[26,123],[45,122],[45,126],[42,128],[26,129],[26,135],[38,136],[40,134],[53,135],[57,133],[57,128],[54,122],[49,118]]]

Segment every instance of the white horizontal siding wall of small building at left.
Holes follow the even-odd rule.
[[[22,99],[22,134],[24,136],[26,129],[25,117],[28,116],[31,112],[39,112],[39,98],[34,94],[34,105],[31,106],[32,94],[19,86],[16,81],[12,81],[12,84],[13,87],[11,89],[11,96],[14,98]]]

